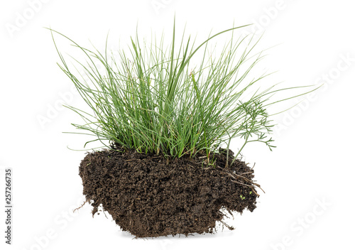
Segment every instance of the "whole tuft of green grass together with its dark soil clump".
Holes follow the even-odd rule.
[[[253,36],[236,37],[244,27],[195,45],[185,32],[177,42],[174,22],[170,45],[164,36],[148,43],[137,34],[129,48],[115,53],[107,50],[108,38],[102,53],[50,30],[60,68],[88,107],[67,106],[83,119],[72,124],[75,134],[93,136],[87,143],[104,148],[94,148],[80,164],[93,214],[102,205],[121,229],[158,237],[212,232],[232,212],[256,208],[260,186],[241,151],[253,142],[272,149],[275,124],[268,108],[308,92],[274,99],[303,87],[262,84],[270,74],[253,69],[263,51],[253,53],[259,41]],[[226,34],[228,42],[216,52],[211,41]],[[68,63],[58,35],[84,58]],[[240,142],[235,155],[233,139]]]

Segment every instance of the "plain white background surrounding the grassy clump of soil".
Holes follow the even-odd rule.
[[[11,167],[11,249],[354,249],[354,7],[349,0],[1,1],[0,195],[4,168]],[[229,221],[236,230],[136,240],[111,217],[93,219],[89,205],[72,213],[83,200],[78,165],[84,151],[67,146],[82,148],[87,138],[62,134],[78,119],[60,107],[62,99],[74,106],[81,101],[55,65],[59,58],[43,27],[97,48],[110,31],[115,49],[119,40],[126,45],[137,22],[142,36],[169,34],[174,14],[180,31],[187,24],[187,33],[199,38],[233,23],[255,23],[248,32],[265,31],[261,48],[278,45],[262,62],[278,70],[266,85],[324,85],[275,116],[278,148],[253,144],[243,151],[247,162],[256,163],[266,194],[254,212]],[[60,46],[70,50],[68,43]],[[41,125],[41,116],[50,121]],[[1,212],[1,232],[4,219]],[[4,249],[3,233],[0,245]]]

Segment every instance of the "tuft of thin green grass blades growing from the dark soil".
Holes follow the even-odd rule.
[[[275,124],[266,108],[285,100],[270,101],[273,94],[285,89],[275,89],[276,85],[258,88],[267,75],[251,75],[263,55],[251,54],[258,43],[253,36],[234,38],[234,31],[244,27],[230,28],[195,45],[185,35],[177,43],[174,22],[170,46],[165,46],[163,36],[147,45],[137,35],[131,38],[129,50],[119,51],[118,57],[107,46],[104,53],[82,48],[50,29],[54,43],[55,33],[64,36],[87,58],[86,62],[72,58],[84,71],[82,75],[77,67],[68,66],[55,43],[60,68],[92,110],[68,106],[84,119],[83,124],[72,125],[82,131],[79,134],[94,136],[87,143],[102,141],[108,146],[115,142],[173,158],[199,151],[207,152],[209,158],[219,147],[229,148],[234,138],[243,141],[237,157],[251,142],[272,149]],[[231,33],[231,38],[213,58],[208,45],[223,33]],[[198,60],[198,65],[192,67],[192,60]],[[256,90],[250,94],[251,89]]]

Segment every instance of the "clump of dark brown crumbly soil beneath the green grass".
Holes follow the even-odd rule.
[[[93,215],[102,205],[136,237],[213,232],[225,211],[252,212],[258,196],[253,170],[238,160],[224,168],[226,154],[220,152],[214,165],[203,153],[170,161],[136,151],[88,153],[80,164],[83,194]]]

